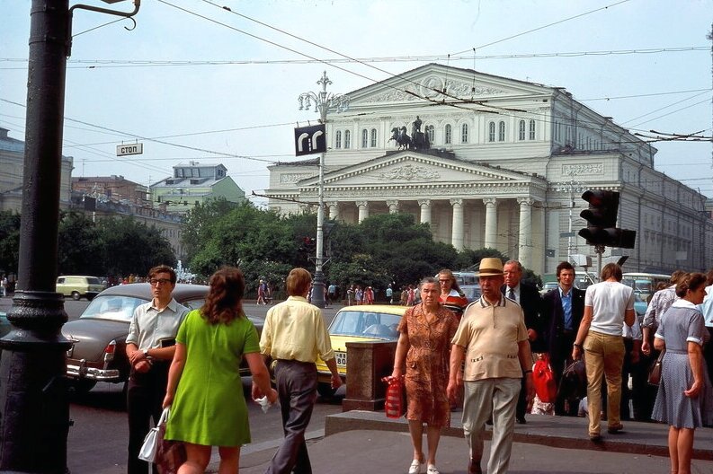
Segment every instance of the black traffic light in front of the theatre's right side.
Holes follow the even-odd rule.
[[[589,209],[584,209],[580,216],[587,221],[586,229],[579,235],[590,245],[606,245],[633,249],[637,232],[619,229],[617,215],[619,214],[619,193],[601,189],[584,191],[582,198],[589,203]]]

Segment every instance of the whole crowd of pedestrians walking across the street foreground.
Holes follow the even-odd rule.
[[[470,304],[449,269],[401,292],[400,301],[409,308],[398,326],[389,379],[402,382],[406,391],[413,444],[407,472],[420,474],[425,468],[427,474],[439,474],[441,430],[450,426],[454,410],[462,409],[468,474],[483,472],[486,425],[492,425],[486,471],[501,474],[508,470],[516,423],[527,423],[526,415],[533,412],[576,416],[582,405],[593,443],[602,440],[604,421],[611,435],[622,433],[629,419],[668,424],[671,471],[691,472],[695,429],[713,424],[708,344],[713,270],[674,272],[670,285],[653,294],[643,318],[637,317],[634,290],[621,283],[616,264],[604,266],[600,282],[586,290],[575,287],[575,268],[568,262],[557,266],[557,288],[544,295],[522,276],[519,261],[486,258],[478,270],[481,296]],[[218,446],[219,472],[238,470],[240,446],[250,443],[240,396],[241,360],[253,376],[252,398],[280,404],[284,439],[266,472],[311,473],[305,432],[316,401],[317,357],[329,368],[333,389],[342,379],[322,313],[307,301],[309,272],[290,271],[289,296],[267,312],[259,337],[243,311],[245,279],[237,268],[221,268],[211,276],[206,303],[193,311],[172,297],[172,268],[152,268],[147,282],[153,300],[134,312],[126,348],[129,474],[147,473],[148,463],[138,460],[138,451],[163,408],[171,408],[165,438],[185,447],[179,473],[204,472],[212,446]],[[258,287],[261,304],[266,288],[261,302]],[[397,292],[393,285],[388,290],[393,303]],[[356,304],[374,302],[370,286],[351,285],[346,295],[348,303],[352,298]],[[337,287],[325,285],[325,301],[337,298]],[[657,359],[663,369],[660,382],[652,385],[646,378]],[[540,374],[533,374],[542,364],[559,387],[551,396],[541,389]],[[585,378],[580,391],[566,389],[575,366]]]

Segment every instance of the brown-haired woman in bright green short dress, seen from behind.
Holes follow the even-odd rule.
[[[240,446],[250,443],[239,373],[243,357],[253,373],[253,397],[277,400],[257,330],[243,312],[244,293],[241,271],[221,268],[210,276],[206,303],[189,312],[178,330],[164,407],[171,406],[165,439],[183,441],[186,448],[179,474],[204,472],[212,446],[220,454],[218,472],[237,472]]]

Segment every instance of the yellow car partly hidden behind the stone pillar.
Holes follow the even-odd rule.
[[[336,313],[328,330],[342,382],[346,383],[346,343],[397,340],[398,323],[407,309],[407,306],[361,304],[345,306]],[[317,358],[316,370],[317,391],[323,397],[331,397],[334,395],[332,375],[320,358]]]

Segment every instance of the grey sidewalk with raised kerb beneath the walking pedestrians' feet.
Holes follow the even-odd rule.
[[[465,474],[468,448],[462,436],[460,412],[444,430],[438,451],[441,473]],[[601,473],[639,474],[669,472],[668,426],[624,422],[622,434],[607,434],[592,443],[586,435],[586,419],[528,415],[527,425],[515,426],[510,472],[519,474]],[[315,473],[406,472],[412,448],[406,420],[389,420],[383,412],[351,411],[327,417],[325,436],[307,434],[309,456]],[[488,436],[489,437],[489,436]],[[425,439],[424,439],[425,446]],[[240,459],[240,472],[263,473],[277,443],[247,445]],[[486,471],[489,442],[482,467]],[[713,429],[696,430],[691,472],[713,472]],[[208,472],[216,472],[213,460]],[[425,467],[423,468],[425,471]]]

